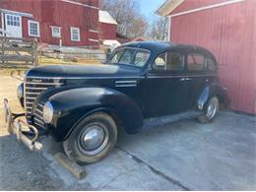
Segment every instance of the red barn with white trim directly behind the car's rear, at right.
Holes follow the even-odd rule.
[[[171,41],[201,45],[220,65],[231,109],[256,113],[256,1],[166,0]]]

